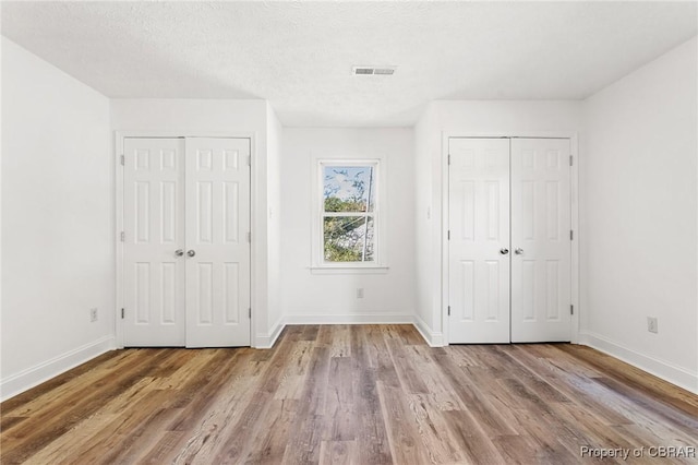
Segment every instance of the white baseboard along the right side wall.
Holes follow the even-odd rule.
[[[654,374],[664,381],[690,391],[694,394],[698,394],[697,372],[691,372],[669,361],[640,354],[637,350],[625,347],[594,333],[580,332],[579,344],[593,347],[599,351],[630,363],[640,370]]]

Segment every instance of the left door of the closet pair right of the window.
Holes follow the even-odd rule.
[[[509,141],[449,139],[448,339],[509,342]]]

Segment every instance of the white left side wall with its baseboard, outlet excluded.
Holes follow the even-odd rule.
[[[113,347],[109,102],[2,38],[2,135],[7,398]]]

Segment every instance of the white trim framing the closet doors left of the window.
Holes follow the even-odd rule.
[[[112,153],[112,163],[115,169],[115,254],[116,254],[116,264],[115,264],[115,282],[116,282],[116,295],[115,295],[115,333],[116,333],[116,346],[119,349],[124,347],[123,345],[123,322],[121,320],[121,309],[123,308],[123,251],[124,243],[121,242],[121,231],[123,230],[123,214],[124,214],[124,205],[123,205],[123,169],[121,166],[121,155],[123,154],[123,142],[127,138],[146,138],[146,139],[158,139],[158,138],[167,138],[167,139],[185,139],[185,138],[220,138],[220,139],[249,139],[250,140],[250,157],[251,157],[251,167],[250,167],[250,231],[252,237],[257,237],[255,225],[260,218],[256,217],[255,211],[258,208],[254,208],[256,202],[256,188],[257,188],[257,148],[256,148],[256,132],[206,132],[206,131],[141,131],[141,130],[125,130],[125,131],[115,131],[113,132],[113,153]],[[260,241],[253,241],[252,247],[250,249],[250,306],[253,311],[250,315],[250,345],[254,347],[255,337],[254,331],[255,327],[255,312],[254,309],[257,308],[257,301],[260,301],[261,297],[256,296],[255,289],[258,288],[255,279],[255,258],[262,257],[261,251],[255,251],[255,242],[258,245]]]

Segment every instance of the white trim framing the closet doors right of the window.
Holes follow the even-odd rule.
[[[442,187],[442,224],[441,224],[441,320],[444,345],[449,345],[448,327],[448,140],[462,139],[569,139],[570,153],[574,159],[569,171],[571,229],[575,231],[571,241],[570,297],[575,313],[571,315],[571,343],[579,343],[579,138],[577,132],[565,131],[507,131],[507,132],[467,132],[442,131],[441,141],[441,187]]]

